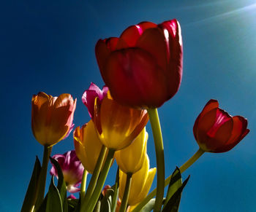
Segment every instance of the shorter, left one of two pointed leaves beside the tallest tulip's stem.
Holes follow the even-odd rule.
[[[170,200],[170,197],[173,196],[173,194],[178,190],[178,188],[181,187],[181,185],[182,185],[181,172],[178,169],[178,167],[176,167],[176,169],[173,171],[173,174],[170,178],[170,183],[169,183],[169,187],[166,194],[164,208],[167,202]]]

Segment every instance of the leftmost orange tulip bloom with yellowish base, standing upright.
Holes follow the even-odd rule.
[[[44,146],[52,146],[65,137],[72,129],[76,99],[64,93],[53,97],[38,93],[32,97],[31,126],[34,137]]]

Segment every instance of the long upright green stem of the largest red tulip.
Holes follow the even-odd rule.
[[[154,211],[161,211],[162,199],[165,192],[165,156],[164,145],[162,143],[162,132],[157,109],[148,109],[148,115],[154,136],[154,146],[157,156],[157,195]]]

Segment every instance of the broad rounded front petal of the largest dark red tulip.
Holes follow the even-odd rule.
[[[113,98],[128,106],[156,108],[167,98],[168,79],[156,59],[145,50],[132,48],[112,52],[104,75]]]

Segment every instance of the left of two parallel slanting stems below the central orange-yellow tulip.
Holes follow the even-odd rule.
[[[84,205],[87,205],[87,203],[91,198],[92,193],[94,192],[94,188],[97,184],[97,180],[99,178],[100,170],[102,169],[102,164],[104,162],[106,152],[107,152],[107,147],[102,145],[102,149],[99,152],[99,157],[95,165],[94,172],[92,173],[91,181],[89,182],[86,195],[83,196],[84,198],[82,198],[82,204]]]

